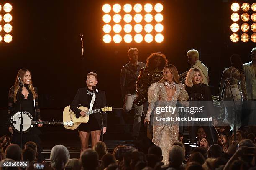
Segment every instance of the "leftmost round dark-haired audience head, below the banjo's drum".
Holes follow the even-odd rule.
[[[17,144],[10,144],[5,150],[5,158],[10,158],[15,161],[21,160],[21,149]]]

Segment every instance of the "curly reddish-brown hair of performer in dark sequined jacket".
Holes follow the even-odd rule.
[[[160,63],[160,66],[159,66],[159,69],[163,70],[165,66],[167,66],[168,64],[168,60],[166,59],[166,56],[162,53],[151,53],[151,55],[147,58],[147,64],[146,66],[151,68],[151,69],[154,69],[156,63],[155,63],[155,59],[160,57],[161,59],[161,63]]]

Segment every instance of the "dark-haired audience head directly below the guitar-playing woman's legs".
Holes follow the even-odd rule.
[[[82,152],[81,160],[84,170],[95,170],[99,166],[99,156],[90,148]]]

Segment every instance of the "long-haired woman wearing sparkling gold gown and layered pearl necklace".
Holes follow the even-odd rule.
[[[179,121],[174,121],[179,116],[178,112],[170,112],[166,108],[175,108],[177,100],[187,101],[188,94],[185,85],[178,79],[178,71],[174,65],[167,65],[163,71],[163,79],[148,88],[148,112],[144,122],[149,123],[151,112],[154,111],[153,140],[154,144],[161,147],[163,162],[168,164],[168,152],[174,142],[178,142]],[[163,109],[164,108],[164,109]],[[164,110],[164,112],[163,112]],[[161,112],[160,112],[161,111]],[[174,120],[160,118],[172,117]]]

